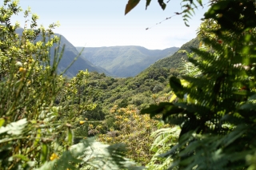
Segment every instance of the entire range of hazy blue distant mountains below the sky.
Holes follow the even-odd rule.
[[[18,34],[22,34],[23,29],[16,30]],[[58,37],[61,36],[60,51],[63,45],[65,50],[62,56],[62,60],[58,65],[58,72],[61,73],[66,69],[74,58],[78,56],[82,51],[82,47],[74,47],[64,36],[55,34]],[[36,41],[40,40],[38,37]],[[54,57],[54,45],[51,48],[51,60]],[[127,45],[127,46],[111,46],[111,47],[85,47],[78,57],[77,61],[70,66],[66,71],[66,76],[74,77],[79,70],[86,70],[98,73],[105,73],[111,77],[134,77],[141,73],[144,69],[150,65],[158,65],[160,59],[170,57],[172,54],[178,51],[178,47],[170,47],[168,49],[146,49],[142,46]],[[179,60],[179,57],[173,60]],[[156,64],[154,64],[158,61]],[[175,61],[177,62],[177,61]],[[167,64],[172,67],[170,61],[164,61],[163,64]]]

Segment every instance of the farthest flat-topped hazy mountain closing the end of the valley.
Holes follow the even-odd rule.
[[[77,47],[81,51],[82,47]],[[179,48],[146,49],[142,46],[85,47],[82,56],[116,77],[134,77],[155,61],[168,57]]]

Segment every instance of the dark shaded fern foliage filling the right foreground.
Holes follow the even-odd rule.
[[[255,4],[212,1],[189,58],[202,75],[170,77],[178,102],[142,110],[181,127],[169,169],[254,169]]]

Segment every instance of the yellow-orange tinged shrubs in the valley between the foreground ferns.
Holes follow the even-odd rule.
[[[145,165],[150,161],[152,152],[150,144],[152,143],[151,132],[154,132],[161,125],[158,121],[150,120],[147,115],[138,115],[138,110],[131,106],[126,109],[112,108],[109,117],[112,117],[110,131],[98,136],[98,140],[107,144],[123,143],[127,146],[127,155],[130,159]],[[108,125],[103,123],[103,127]]]

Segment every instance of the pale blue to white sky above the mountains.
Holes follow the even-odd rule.
[[[146,10],[146,0],[125,13],[128,0],[20,0],[23,10],[30,6],[38,14],[38,25],[45,27],[53,22],[61,26],[54,30],[62,34],[74,46],[101,47],[116,45],[140,45],[147,49],[180,47],[196,37],[201,18],[207,10],[198,7],[185,26],[181,12],[181,0],[170,0],[162,10],[157,0],[152,0]],[[165,1],[166,2],[166,1]],[[1,4],[2,5],[2,4]],[[23,14],[12,18],[24,27]],[[162,22],[161,24],[157,24]],[[150,28],[146,30],[146,28]]]

